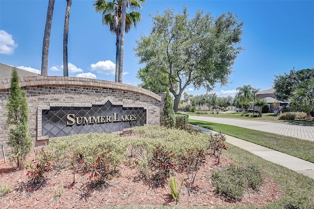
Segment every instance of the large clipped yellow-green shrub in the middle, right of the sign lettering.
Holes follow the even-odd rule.
[[[192,186],[197,171],[204,163],[204,157],[209,153],[209,135],[197,132],[191,134],[187,131],[165,129],[160,126],[135,127],[133,132],[145,136],[145,138],[132,139],[131,147],[133,148],[130,150],[133,153],[134,164],[139,167],[146,179],[157,178],[158,183],[160,176],[157,175],[159,173],[157,168],[161,168],[162,181],[160,182],[164,183],[165,178],[169,177],[164,174],[176,169],[179,172],[186,172],[187,182]],[[162,149],[159,149],[160,145]],[[159,159],[158,161],[163,165],[157,163],[156,159]],[[148,172],[149,170],[152,172]],[[148,173],[152,174],[149,176]]]

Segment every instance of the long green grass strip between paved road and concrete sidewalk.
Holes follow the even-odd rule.
[[[201,126],[213,131],[221,131],[224,134],[314,163],[313,141],[219,123],[191,119],[188,121],[190,124]]]

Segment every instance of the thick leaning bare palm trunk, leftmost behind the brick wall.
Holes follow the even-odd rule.
[[[48,52],[49,52],[49,43],[50,43],[50,32],[52,26],[52,16],[53,16],[53,8],[54,8],[55,0],[49,0],[48,2],[48,10],[47,10],[47,18],[44,32],[44,40],[43,40],[43,52],[41,59],[41,75],[48,76]]]

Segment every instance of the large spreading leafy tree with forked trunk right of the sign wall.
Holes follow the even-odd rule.
[[[169,88],[177,111],[188,85],[210,91],[216,83],[228,83],[235,58],[242,50],[243,22],[231,12],[213,18],[197,11],[191,19],[186,7],[182,13],[174,13],[174,9],[167,9],[162,15],[152,16],[150,34],[136,40],[134,51],[139,63],[146,64],[137,73],[141,86],[151,86],[153,91]]]

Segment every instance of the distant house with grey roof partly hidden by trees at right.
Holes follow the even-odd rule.
[[[255,95],[256,95],[256,98],[266,99],[266,103],[270,105],[270,112],[273,112],[274,110],[280,110],[281,108],[286,108],[288,105],[288,102],[283,102],[276,99],[274,88],[256,92]],[[276,102],[276,105],[274,105],[274,102]]]

